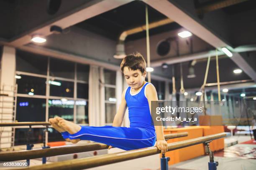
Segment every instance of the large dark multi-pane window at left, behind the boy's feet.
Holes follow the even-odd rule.
[[[19,76],[15,76],[18,84],[16,120],[44,122],[47,121],[46,117],[59,116],[88,124],[89,70],[90,65],[17,50],[16,75]],[[74,92],[75,87],[77,94]],[[15,145],[26,144],[28,129],[15,129]],[[33,143],[43,142],[43,129],[33,128]],[[61,134],[52,128],[49,128],[48,135],[49,142],[63,140]]]

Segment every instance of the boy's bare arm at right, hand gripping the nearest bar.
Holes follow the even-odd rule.
[[[151,113],[151,101],[158,101],[156,88],[149,84],[146,88],[146,96],[148,98],[148,105],[149,110]],[[163,126],[155,126],[156,130],[156,146],[159,150],[161,150],[161,153],[165,153],[168,150],[167,142],[164,139],[164,128]]]

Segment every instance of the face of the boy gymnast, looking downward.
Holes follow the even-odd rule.
[[[123,74],[127,84],[133,89],[141,87],[146,77],[146,71],[142,74],[141,70],[131,70],[128,67],[123,68]]]

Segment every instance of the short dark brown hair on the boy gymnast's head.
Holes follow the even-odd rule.
[[[128,67],[131,70],[139,69],[143,74],[146,70],[146,62],[143,56],[137,52],[136,54],[129,54],[126,57],[124,57],[120,67],[122,72],[124,67]]]

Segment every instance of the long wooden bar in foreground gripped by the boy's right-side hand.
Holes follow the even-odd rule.
[[[226,136],[226,133],[218,133],[215,135],[204,136],[195,139],[184,140],[181,142],[168,144],[168,150],[176,150],[185,148],[200,143],[205,143],[210,140],[220,139]],[[80,158],[75,160],[66,160],[58,163],[50,163],[44,165],[33,166],[31,168],[24,168],[23,170],[81,170],[86,168],[94,168],[111,163],[118,163],[125,160],[132,160],[136,158],[146,157],[161,153],[156,147],[142,148],[137,150],[130,150],[121,153],[112,153],[106,155],[93,156],[89,158]],[[172,158],[171,158],[172,159]],[[15,170],[15,169],[13,169]]]

